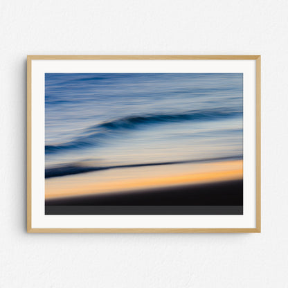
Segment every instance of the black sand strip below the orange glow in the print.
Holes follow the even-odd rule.
[[[150,190],[48,199],[46,200],[46,214],[55,214],[55,211],[57,214],[63,214],[60,213],[59,208],[55,208],[56,206],[61,206],[62,210],[64,209],[64,206],[71,206],[71,208],[67,210],[67,214],[75,214],[73,213],[73,207],[75,208],[75,211],[77,210],[77,214],[87,214],[84,213],[85,206],[87,206],[88,210],[91,210],[88,206],[111,206],[110,212],[108,208],[102,209],[102,212],[100,212],[101,209],[98,209],[100,213],[97,213],[97,210],[92,209],[89,214],[135,214],[135,208],[132,208],[133,206],[172,206],[170,209],[171,213],[169,213],[169,208],[164,209],[165,214],[179,214],[179,209],[175,210],[173,209],[173,206],[183,206],[183,209],[186,210],[185,214],[190,213],[188,213],[189,209],[187,210],[184,206],[238,206],[236,210],[240,211],[239,206],[243,206],[243,181],[235,180]],[[80,206],[82,206],[82,208],[79,208]],[[126,208],[127,213],[125,213],[124,208],[119,210],[116,206],[131,207],[130,209],[129,207]],[[141,211],[141,214],[143,215],[154,214],[151,213],[151,209],[149,208],[146,209],[147,211],[144,207],[139,209],[138,210]],[[118,213],[115,213],[117,210]],[[152,210],[155,212],[155,209]],[[122,213],[120,213],[121,211]],[[199,209],[194,209],[194,213],[192,214],[195,214],[195,211],[198,211],[197,214],[201,214]],[[229,209],[227,211],[229,211]],[[225,212],[223,210],[223,213],[226,214],[227,211]],[[242,213],[242,211],[240,212]],[[221,209],[216,214],[219,215],[219,213],[221,214]]]

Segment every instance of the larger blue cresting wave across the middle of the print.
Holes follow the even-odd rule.
[[[99,123],[87,128],[84,135],[75,138],[73,141],[60,143],[57,145],[46,145],[45,153],[51,154],[63,150],[81,149],[87,146],[98,146],[105,141],[105,138],[111,137],[125,130],[133,130],[138,127],[147,127],[150,125],[163,123],[179,123],[183,121],[206,121],[220,120],[223,118],[232,118],[242,116],[242,111],[233,109],[204,109],[186,111],[174,114],[148,114],[140,116],[127,116],[106,122]]]

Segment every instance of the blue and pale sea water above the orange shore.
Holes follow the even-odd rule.
[[[241,159],[242,94],[242,73],[46,73],[46,171]]]

